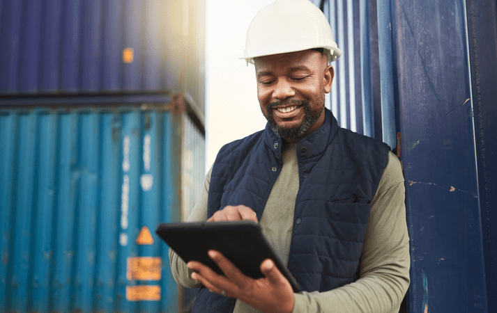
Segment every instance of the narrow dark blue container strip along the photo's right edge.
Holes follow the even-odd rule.
[[[497,1],[467,1],[468,50],[489,312],[497,311]]]

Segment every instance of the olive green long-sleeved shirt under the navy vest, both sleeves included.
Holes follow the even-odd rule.
[[[296,144],[283,146],[283,167],[270,192],[259,224],[283,262],[288,262],[293,210],[299,188]],[[189,222],[207,219],[211,170]],[[360,258],[360,278],[326,292],[294,294],[293,312],[399,312],[409,286],[409,238],[404,204],[404,177],[400,162],[390,153],[389,161],[372,201],[366,238]],[[188,288],[201,285],[190,278],[185,262],[169,249],[174,279]],[[303,264],[305,266],[305,264]],[[259,312],[236,300],[234,312]]]

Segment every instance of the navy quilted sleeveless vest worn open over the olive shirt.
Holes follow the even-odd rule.
[[[282,168],[282,138],[266,129],[217,154],[208,217],[227,205],[252,208],[260,220]],[[328,291],[358,279],[371,202],[388,163],[388,145],[326,121],[297,145],[300,188],[288,268],[303,291]],[[202,288],[192,312],[232,312],[235,299]]]

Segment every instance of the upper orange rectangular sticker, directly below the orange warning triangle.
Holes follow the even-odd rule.
[[[161,265],[160,257],[128,257],[126,278],[128,280],[160,280]]]

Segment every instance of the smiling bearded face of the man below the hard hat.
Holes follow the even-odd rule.
[[[297,51],[259,56],[254,63],[259,105],[278,136],[295,142],[323,125],[324,95],[334,75],[324,54]]]

